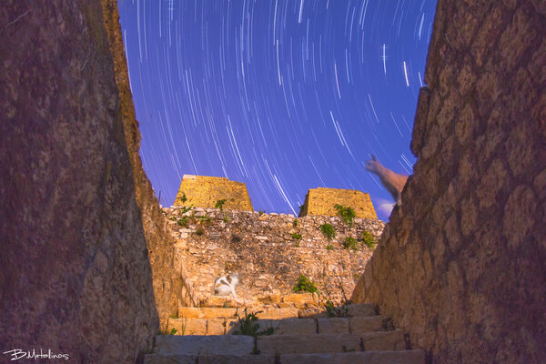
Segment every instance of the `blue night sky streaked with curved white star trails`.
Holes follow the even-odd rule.
[[[298,214],[309,188],[392,198],[371,154],[410,175],[435,0],[119,0],[147,176],[245,182],[255,210]]]

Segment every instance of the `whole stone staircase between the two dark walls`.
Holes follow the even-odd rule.
[[[299,301],[278,308],[285,300]],[[425,363],[424,351],[410,349],[403,332],[372,305],[347,305],[339,311],[342,317],[329,317],[317,306],[316,296],[279,301],[250,308],[179,308],[180,319],[167,321],[167,332],[173,335],[158,335],[144,363]],[[224,302],[229,304],[235,302]],[[238,317],[251,313],[258,317],[253,323],[259,331],[272,328],[273,334],[234,335],[240,329]]]

